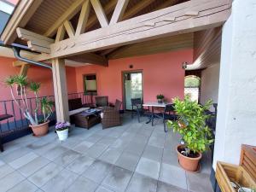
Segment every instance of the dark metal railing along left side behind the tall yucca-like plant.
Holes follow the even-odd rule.
[[[54,96],[40,96],[38,97],[39,100],[42,98],[47,97],[51,101],[55,101]],[[84,95],[83,92],[79,93],[69,93],[68,99],[75,99],[75,98],[81,98],[83,104],[91,105],[94,101],[93,96]],[[22,100],[18,99],[18,103],[22,104]],[[31,97],[27,98],[29,111],[33,113],[33,109],[36,105],[36,98]],[[39,108],[41,108],[39,106]],[[54,108],[55,111],[55,108]],[[31,129],[29,128],[29,122],[28,120],[23,116],[20,108],[15,104],[14,100],[6,100],[6,101],[0,101],[0,113],[8,113],[13,115],[12,118],[5,119],[0,122],[0,137],[2,137],[3,143],[9,142],[14,140],[15,138],[25,136],[26,134],[32,133]],[[39,109],[38,111],[38,117],[42,118],[42,111]],[[51,121],[51,125],[55,124],[55,112],[51,115],[49,118]]]

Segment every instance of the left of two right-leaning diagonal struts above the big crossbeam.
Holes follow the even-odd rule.
[[[79,23],[76,29],[75,36],[79,36],[80,34],[84,33],[89,14],[90,14],[90,0],[86,0],[82,6],[81,13],[79,15]]]

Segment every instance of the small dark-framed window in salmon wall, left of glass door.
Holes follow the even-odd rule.
[[[97,94],[96,74],[85,74],[83,78],[84,78],[84,94],[96,95]]]

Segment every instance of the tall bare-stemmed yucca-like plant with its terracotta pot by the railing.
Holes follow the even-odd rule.
[[[36,82],[29,83],[26,76],[23,75],[9,76],[5,79],[4,83],[9,86],[11,96],[13,97],[16,105],[18,106],[18,108],[20,108],[20,111],[24,115],[24,117],[30,122],[29,126],[32,128],[34,136],[41,137],[47,134],[49,130],[49,117],[52,114],[52,107],[54,105],[54,102],[49,101],[49,99],[47,98],[43,98],[41,101],[39,101],[38,91],[40,90],[40,84]],[[18,94],[17,96],[15,96],[14,87],[20,89],[19,93],[21,102],[18,102]],[[27,88],[33,92],[36,99],[34,109],[31,110],[33,114],[30,112],[30,108],[28,105],[28,100],[26,96]],[[39,104],[41,104],[41,109],[44,117],[42,120],[39,120],[38,118]]]

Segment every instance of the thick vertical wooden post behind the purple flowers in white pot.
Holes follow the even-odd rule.
[[[52,60],[52,73],[55,90],[55,111],[57,122],[69,121],[67,80],[64,59]]]

